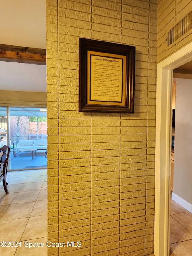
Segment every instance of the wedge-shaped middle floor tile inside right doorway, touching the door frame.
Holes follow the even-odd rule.
[[[170,244],[192,239],[190,234],[174,218],[170,217]]]

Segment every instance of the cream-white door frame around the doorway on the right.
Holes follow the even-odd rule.
[[[155,256],[169,255],[171,104],[173,69],[192,60],[192,42],[157,65],[155,146]]]

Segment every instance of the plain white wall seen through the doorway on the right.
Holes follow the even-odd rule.
[[[176,79],[174,194],[192,204],[192,80]]]

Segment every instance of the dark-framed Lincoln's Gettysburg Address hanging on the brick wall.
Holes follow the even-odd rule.
[[[134,113],[135,47],[79,38],[79,112]]]

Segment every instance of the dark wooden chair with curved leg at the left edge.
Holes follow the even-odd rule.
[[[3,187],[6,194],[9,194],[9,191],[7,189],[8,183],[6,181],[9,152],[10,148],[7,145],[4,145],[2,148],[0,148],[0,182],[1,180],[3,181]]]

